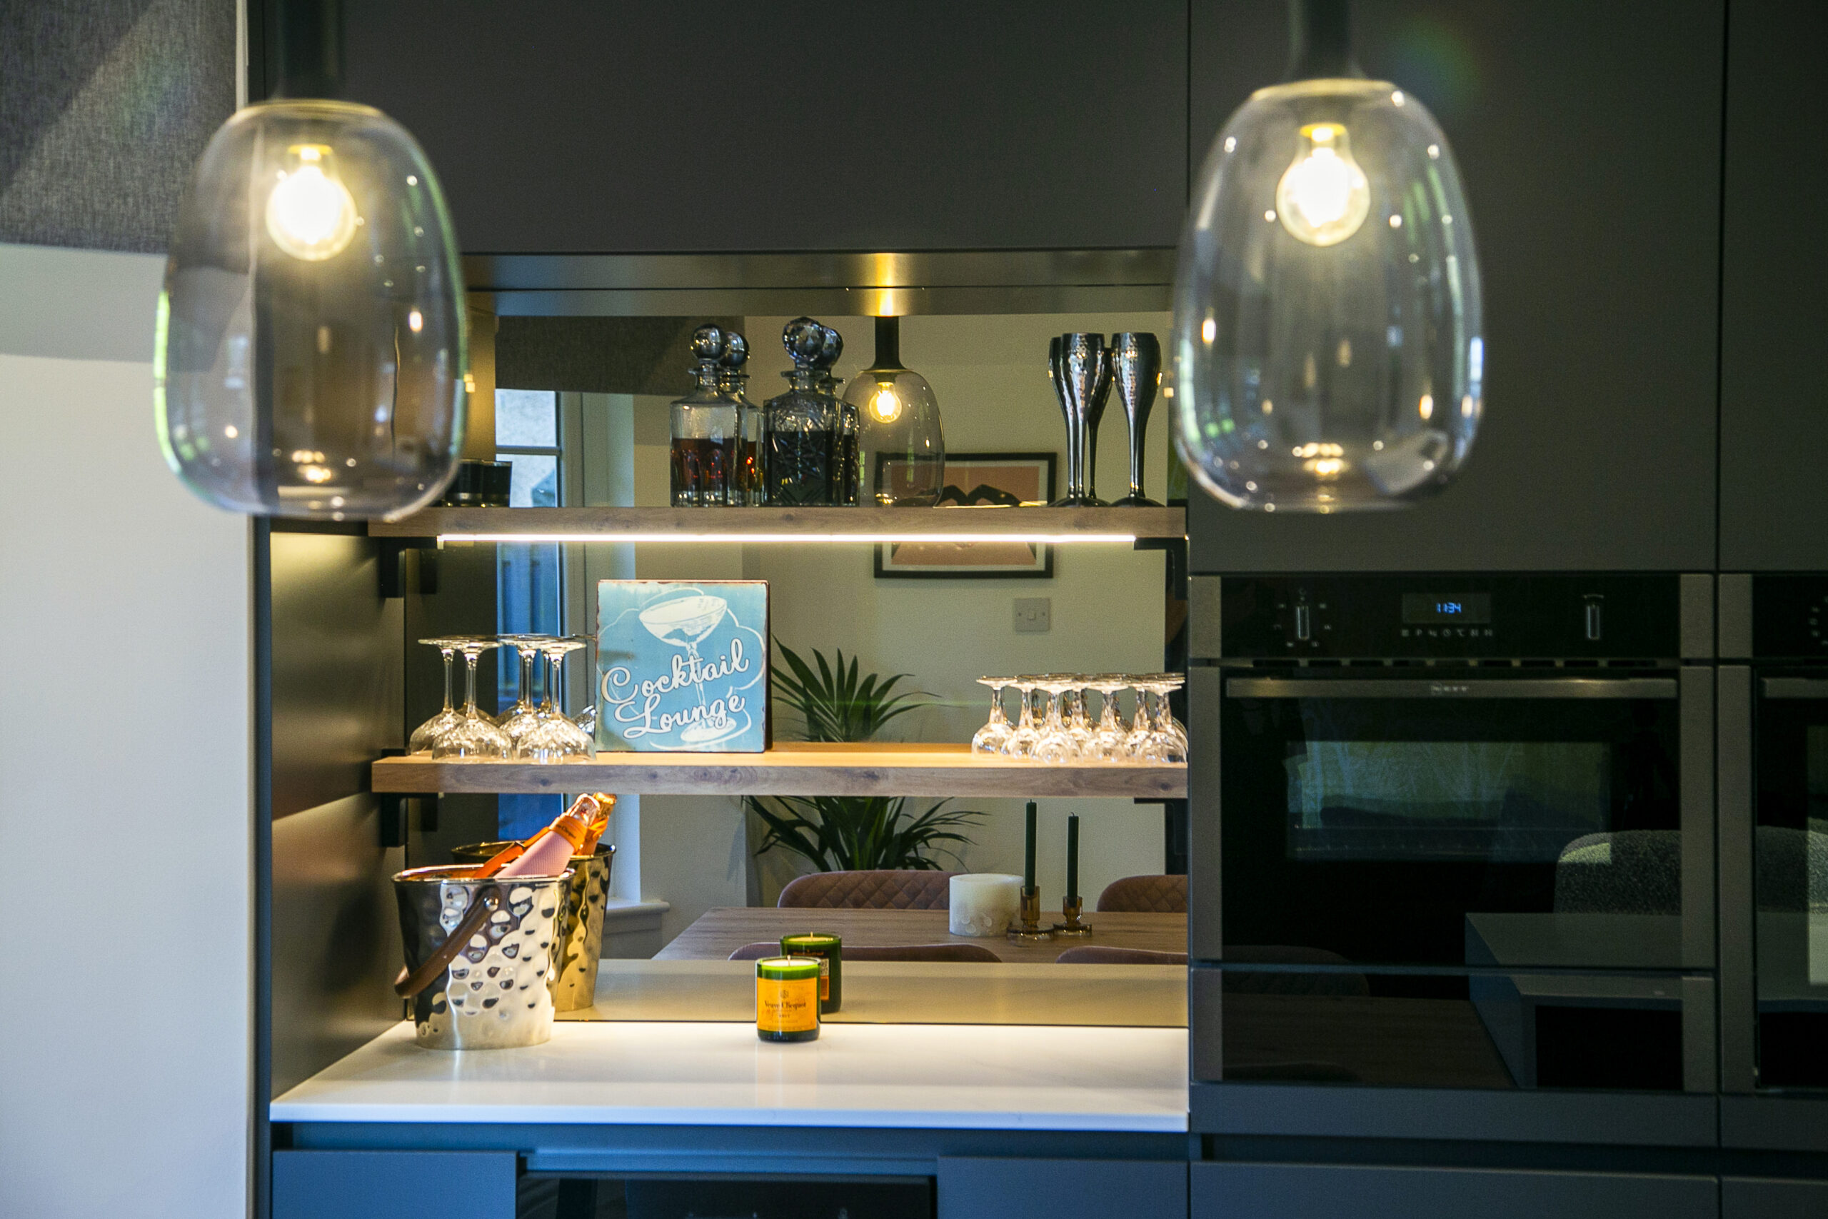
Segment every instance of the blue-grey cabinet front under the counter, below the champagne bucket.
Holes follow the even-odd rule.
[[[514,1219],[514,1151],[274,1151],[272,1219]]]

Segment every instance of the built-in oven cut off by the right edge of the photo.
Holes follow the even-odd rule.
[[[1828,576],[1720,579],[1722,1086],[1828,1093]]]

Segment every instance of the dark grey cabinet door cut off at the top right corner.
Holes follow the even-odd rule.
[[[1828,5],[1733,0],[1720,280],[1720,568],[1828,568]]]

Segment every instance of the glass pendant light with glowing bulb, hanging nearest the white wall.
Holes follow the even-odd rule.
[[[159,442],[221,508],[393,519],[462,448],[457,239],[413,137],[333,101],[338,5],[280,7],[280,97],[216,132],[172,234]]]

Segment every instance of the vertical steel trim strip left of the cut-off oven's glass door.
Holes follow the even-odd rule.
[[[1751,669],[1720,665],[1716,833],[1720,859],[1720,1091],[1757,1089],[1751,894]]]

